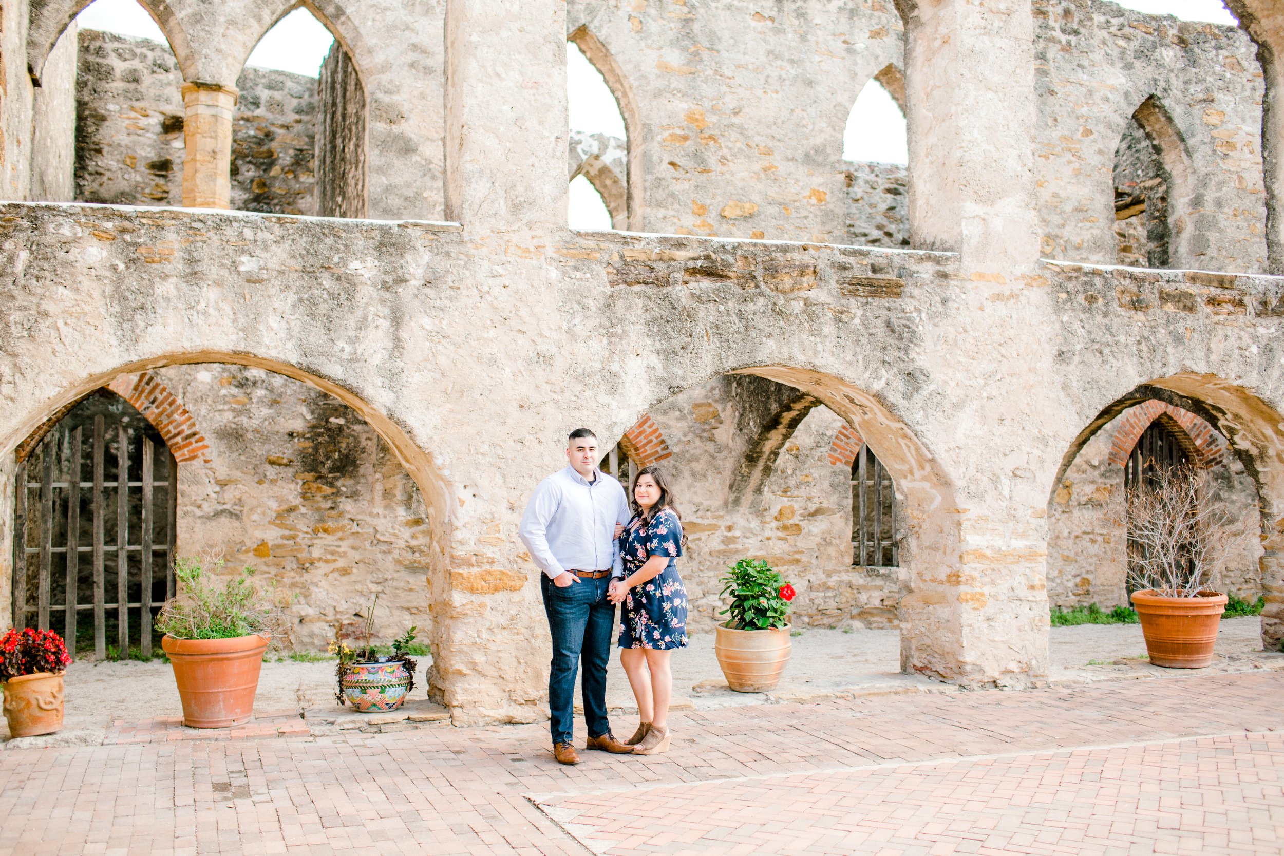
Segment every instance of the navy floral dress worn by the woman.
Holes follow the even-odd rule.
[[[665,508],[647,525],[642,515],[620,535],[624,574],[636,574],[652,556],[668,556],[669,566],[642,585],[629,589],[620,612],[620,647],[669,651],[687,644],[687,589],[678,576],[682,522]]]

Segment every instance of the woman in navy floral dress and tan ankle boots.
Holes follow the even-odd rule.
[[[669,655],[687,644],[687,590],[677,561],[686,539],[673,492],[659,467],[638,470],[633,511],[620,535],[624,579],[611,584],[610,598],[624,604],[620,665],[642,720],[628,743],[636,755],[659,755],[669,748]]]

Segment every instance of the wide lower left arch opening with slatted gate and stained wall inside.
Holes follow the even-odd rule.
[[[112,549],[123,544],[130,569],[125,603],[131,610],[127,616],[131,648],[140,646],[137,629],[141,610],[146,608],[140,606],[145,598],[139,594],[150,592],[150,604],[159,607],[167,593],[168,558],[177,554],[222,557],[227,562],[226,572],[249,565],[275,580],[291,597],[288,643],[295,648],[320,651],[336,629],[351,633],[356,613],[379,593],[376,633],[383,642],[417,625],[420,638],[430,639],[434,653],[444,656],[448,649],[440,643],[444,630],[434,621],[429,607],[434,598],[444,597],[448,585],[442,574],[449,520],[443,512],[444,486],[424,453],[386,417],[334,384],[280,363],[256,358],[226,362],[229,357],[190,354],[185,359],[193,362],[181,364],[154,361],[126,367],[113,377],[95,379],[86,384],[87,390],[69,393],[67,403],[71,407],[58,408],[54,417],[37,429],[32,435],[36,443],[19,445],[19,456],[50,445],[58,450],[56,458],[40,458],[39,463],[26,466],[27,481],[40,481],[32,477],[32,467],[46,467],[46,459],[54,461],[53,499],[46,501],[40,489],[31,488],[26,492],[26,503],[15,502],[18,513],[24,513],[30,521],[32,509],[42,512],[48,502],[53,508],[51,520],[67,518],[65,503],[69,501],[60,497],[74,480],[60,477],[71,470],[65,449],[74,445],[77,427],[68,420],[77,418],[81,409],[99,399],[117,402],[132,415],[134,422],[127,424],[127,448],[139,459],[131,457],[127,465],[126,501],[134,516],[119,517],[126,526],[117,530],[118,517],[112,516],[110,507],[105,506],[104,511],[104,608],[110,611],[114,599]],[[112,393],[104,391],[104,382]],[[185,415],[181,418],[176,416],[180,411]],[[199,426],[199,431],[186,426]],[[82,533],[90,533],[94,522],[89,503],[95,493],[94,483],[99,480],[91,476],[96,466],[90,461],[95,448],[92,431],[92,427],[81,431],[87,462],[81,479]],[[108,439],[103,471],[107,484],[101,490],[109,504],[116,502],[110,489],[117,445]],[[137,509],[139,504],[146,507],[145,485],[149,481],[145,453],[137,449],[148,439],[157,454],[152,467],[155,474],[152,497],[157,502],[162,495],[175,497],[169,517],[162,518],[160,511],[152,512],[150,549],[155,562],[150,588],[139,570],[140,556],[148,551],[148,518]],[[162,461],[166,448],[176,453],[173,465]],[[22,484],[21,476],[18,481]],[[168,527],[162,525],[167,520],[171,521]],[[19,554],[35,556],[36,561],[35,569],[27,563],[24,574],[19,574],[14,563],[14,604],[15,610],[39,620],[46,603],[40,594],[45,589],[36,575],[46,565],[39,552],[44,544],[41,539],[45,531],[56,538],[67,526],[58,524],[32,530],[24,524],[24,529],[28,534]],[[90,535],[81,538],[82,547],[91,543],[96,542]],[[36,552],[32,548],[37,548]],[[89,558],[92,553],[86,549],[81,553],[87,557],[81,570],[86,566],[92,570],[95,563]],[[48,565],[50,580],[56,580],[59,571],[65,572],[65,566],[56,561]],[[24,589],[21,598],[19,579]],[[80,589],[89,592],[87,599],[81,599],[82,606],[99,604],[92,588],[95,579],[91,575],[90,588],[82,584]],[[60,592],[56,583],[50,590],[55,595]],[[32,592],[39,597],[32,598]],[[19,606],[19,599],[24,606]],[[49,603],[58,604],[58,597]],[[109,622],[107,644],[117,644],[113,629],[119,631],[119,625]],[[85,626],[80,630],[83,640]],[[145,652],[145,644],[143,647]],[[89,649],[92,651],[92,646]]]

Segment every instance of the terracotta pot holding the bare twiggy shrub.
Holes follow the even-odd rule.
[[[1203,669],[1212,662],[1217,628],[1226,611],[1226,595],[1201,592],[1193,598],[1161,597],[1134,592],[1132,608],[1141,620],[1141,635],[1150,662],[1168,669]]]

